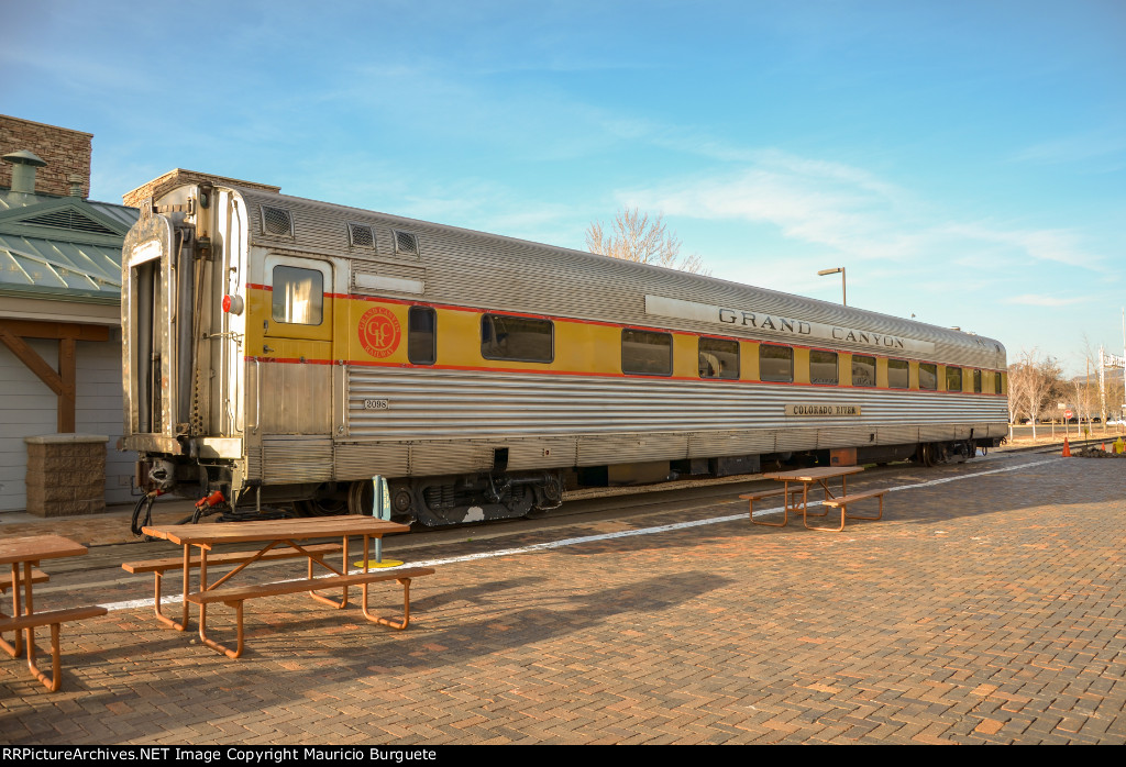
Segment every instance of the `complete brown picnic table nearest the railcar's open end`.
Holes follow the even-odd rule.
[[[238,658],[242,655],[243,650],[242,603],[244,599],[261,596],[309,592],[315,599],[337,608],[343,608],[348,604],[348,587],[360,586],[364,594],[364,617],[394,629],[405,629],[410,621],[410,580],[411,578],[434,572],[434,568],[400,568],[372,572],[368,569],[368,551],[373,539],[378,540],[384,535],[405,533],[409,530],[409,525],[387,522],[373,516],[347,515],[296,520],[265,520],[259,522],[150,526],[144,527],[142,532],[145,535],[167,540],[184,549],[184,614],[180,623],[172,623],[175,628],[180,631],[187,628],[190,610],[188,605],[196,604],[199,606],[200,641],[231,658]],[[313,547],[309,547],[307,543],[303,544],[303,542],[310,540],[325,538],[341,538],[343,541],[343,561],[339,569],[325,561],[323,554],[310,551]],[[358,574],[349,574],[349,538],[363,538],[364,540],[363,571]],[[238,567],[218,578],[215,583],[209,584],[207,579],[207,554],[214,547],[223,543],[256,543],[260,545],[257,551],[244,552],[245,556],[240,558]],[[289,547],[296,552],[296,556],[309,558],[307,578],[244,586],[226,585],[234,576],[243,572],[251,563],[269,559],[270,552],[276,552],[279,547]],[[199,552],[197,559],[191,557],[194,548]],[[331,575],[314,578],[314,562],[327,569]],[[199,587],[196,590],[193,590],[190,586],[193,568],[198,568],[199,571]],[[368,612],[368,585],[377,580],[397,580],[403,586],[403,619],[401,621],[377,617]],[[343,595],[340,599],[327,597],[318,593],[319,589],[332,587],[343,589]],[[235,610],[238,646],[234,650],[207,637],[207,605],[212,602],[223,602]]]

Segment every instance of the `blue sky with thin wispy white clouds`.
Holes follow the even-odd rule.
[[[17,2],[0,112],[172,168],[1121,353],[1126,2]]]

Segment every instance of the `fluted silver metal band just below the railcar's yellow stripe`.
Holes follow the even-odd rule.
[[[390,368],[355,368],[348,380],[349,435],[387,440],[808,428],[814,434],[802,443],[815,448],[819,427],[859,433],[904,422],[976,424],[1008,416],[998,398],[876,389]],[[386,399],[388,409],[365,410],[366,398]],[[787,404],[858,404],[863,415],[786,417]],[[935,439],[953,437],[947,426]],[[796,449],[788,445],[779,449]]]

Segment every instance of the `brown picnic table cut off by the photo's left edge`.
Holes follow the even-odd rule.
[[[86,552],[84,545],[62,535],[28,535],[0,540],[0,567],[11,566],[11,576],[0,577],[0,592],[11,588],[12,598],[11,615],[0,613],[0,633],[16,632],[15,639],[10,643],[0,637],[0,648],[12,658],[21,655],[24,652],[24,632],[26,631],[27,667],[32,675],[51,692],[57,691],[62,684],[59,650],[60,625],[68,621],[81,621],[96,615],[105,615],[107,610],[90,606],[35,612],[33,586],[36,583],[47,580],[46,574],[36,568],[44,559],[78,557]],[[42,625],[51,626],[52,671],[50,676],[39,669],[35,659],[35,629]]]

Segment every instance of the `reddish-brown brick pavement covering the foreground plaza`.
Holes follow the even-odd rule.
[[[1043,460],[866,472],[850,487],[958,479],[892,493],[883,521],[840,534],[739,520],[443,565],[401,633],[356,607],[254,601],[238,661],[150,610],[113,612],[64,628],[61,693],[0,661],[0,740],[1121,743],[1121,464]],[[743,508],[568,520],[410,559]]]

